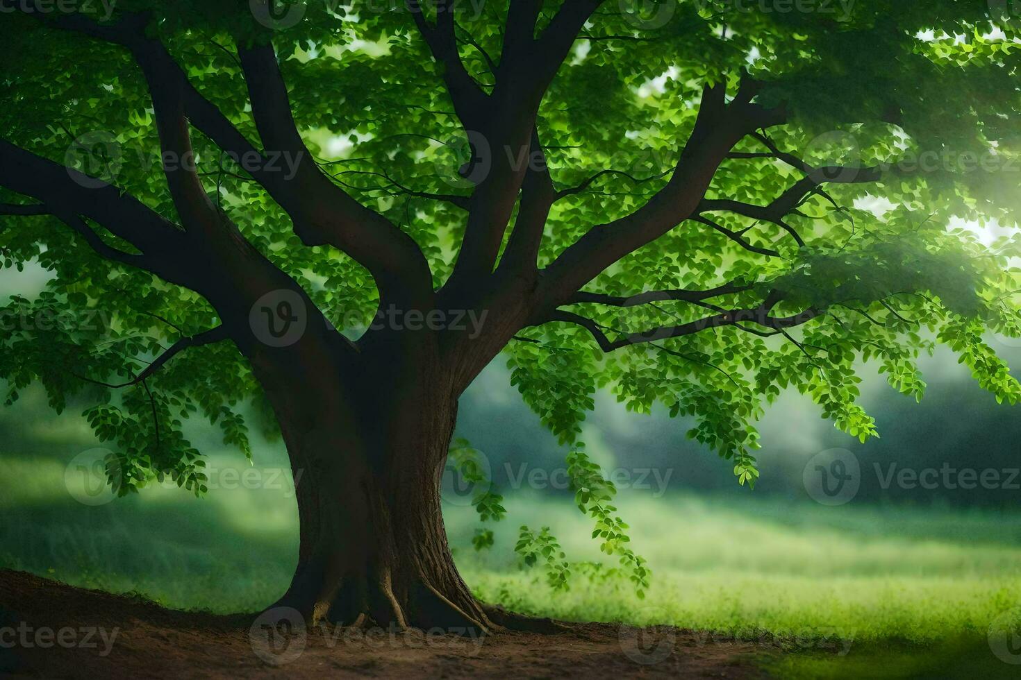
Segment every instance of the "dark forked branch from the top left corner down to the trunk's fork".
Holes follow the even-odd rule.
[[[197,92],[181,66],[158,40],[146,33],[150,21],[147,13],[125,12],[111,23],[97,23],[82,14],[45,14],[26,8],[23,3],[0,0],[5,9],[21,11],[37,19],[41,25],[68,31],[93,39],[127,47],[143,71],[150,85],[155,83],[166,89],[165,95],[153,92],[154,103],[163,100],[160,108],[165,112],[164,121],[177,116],[179,108],[184,116],[198,129],[207,135],[223,151],[235,157],[260,159],[262,162],[246,162],[253,167],[252,176],[258,181],[288,213],[294,221],[296,232],[308,245],[332,245],[366,266],[376,278],[384,297],[398,302],[416,300],[421,303],[432,294],[432,275],[428,262],[415,241],[400,230],[383,215],[362,206],[333,184],[312,161],[307,153],[290,114],[290,104],[283,79],[280,75],[276,55],[271,45],[241,46],[242,63],[245,64],[246,80],[252,95],[252,108],[256,124],[266,150],[295,154],[299,163],[297,176],[289,178],[282,172],[275,172],[265,162],[265,155],[259,152],[208,99]],[[173,97],[169,93],[174,93]],[[284,111],[284,109],[287,109]],[[177,110],[177,112],[174,112]],[[177,130],[177,132],[174,132]],[[171,145],[169,138],[177,138],[173,144],[180,151],[183,138],[179,122],[169,123],[161,129],[164,146]],[[186,132],[186,130],[185,130]],[[172,147],[173,148],[173,147]],[[300,155],[298,155],[300,154]],[[176,199],[182,194],[175,192],[175,182],[194,182],[194,178],[180,175],[172,181],[172,193]],[[183,189],[179,186],[178,190]],[[189,203],[194,204],[194,197]],[[176,203],[179,201],[176,200]],[[178,205],[179,210],[182,206]],[[185,205],[185,212],[189,206]],[[187,217],[182,215],[186,221]]]

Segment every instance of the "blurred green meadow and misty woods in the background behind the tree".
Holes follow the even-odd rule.
[[[6,270],[0,302],[31,297],[44,281],[43,271]],[[1021,365],[1017,341],[989,342]],[[1021,479],[1009,472],[1021,467],[1021,406],[998,405],[949,351],[923,360],[922,370],[929,387],[916,404],[875,367],[862,368],[862,403],[880,432],[865,444],[820,418],[807,398],[783,395],[761,423],[753,490],[737,484],[732,464],[685,436],[684,419],[627,413],[597,395],[583,439],[603,472],[617,475],[633,547],[652,568],[653,586],[639,600],[613,564],[579,564],[570,589],[556,592],[541,570],[520,564],[513,545],[522,524],[548,526],[573,563],[600,556],[591,521],[557,472],[568,451],[525,406],[498,360],[461,400],[457,434],[484,454],[509,512],[489,524],[495,544],[479,553],[474,509],[460,495],[449,499],[455,559],[478,594],[537,614],[799,636],[810,664],[829,663],[814,651],[831,660],[853,645],[882,645],[888,677],[929,667],[949,673],[951,658],[963,673],[1015,670],[990,655],[985,638],[990,621],[1021,605]],[[218,426],[190,423],[212,471],[207,498],[158,487],[113,499],[82,478],[90,473],[82,461],[91,465],[102,447],[80,416],[85,406],[55,415],[32,388],[0,409],[0,567],[216,612],[257,610],[286,588],[297,511],[280,442],[254,436],[249,464],[222,443]],[[847,503],[826,506],[807,492],[803,473],[834,448],[859,461],[861,485]],[[994,469],[1001,483],[908,488],[887,483],[891,464],[979,475]],[[854,659],[826,673],[854,677],[862,672]],[[822,666],[805,668],[788,675],[822,673]]]

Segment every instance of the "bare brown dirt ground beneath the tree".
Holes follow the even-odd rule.
[[[762,647],[675,628],[570,624],[485,638],[213,616],[0,571],[0,677],[763,678]]]

